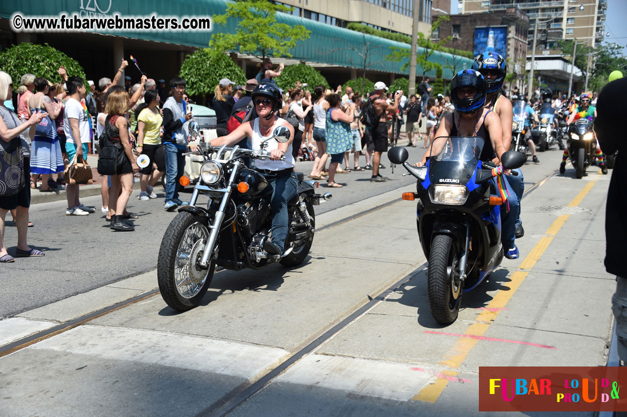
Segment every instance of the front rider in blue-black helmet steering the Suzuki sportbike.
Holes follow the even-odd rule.
[[[463,70],[453,76],[453,80],[451,80],[451,101],[453,101],[455,111],[450,115],[446,115],[444,123],[440,123],[440,127],[435,135],[436,138],[440,139],[436,139],[431,144],[431,148],[424,154],[420,162],[415,164],[416,167],[422,167],[432,154],[440,154],[446,143],[446,140],[443,140],[441,136],[480,136],[485,140],[485,145],[479,155],[479,159],[483,162],[496,160],[497,165],[500,165],[501,155],[505,152],[503,130],[498,115],[489,108],[484,107],[485,96],[485,80],[478,71]],[[503,181],[510,195],[508,202],[512,217],[515,220],[515,214],[519,210],[518,197],[507,182],[506,176],[503,176]],[[507,210],[503,208],[501,211]],[[505,229],[505,223],[503,223],[501,242],[505,249],[505,257],[517,259],[519,252],[515,245],[515,221],[508,222],[508,225],[508,229]]]

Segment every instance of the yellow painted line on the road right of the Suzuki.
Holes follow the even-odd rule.
[[[584,197],[586,197],[587,193],[594,187],[595,183],[596,181],[587,183],[586,187],[577,194],[567,207],[576,207],[579,205]],[[528,270],[534,267],[535,263],[540,259],[542,254],[544,254],[544,251],[549,247],[549,244],[551,244],[551,241],[562,226],[564,226],[569,217],[569,214],[557,217],[551,227],[547,229],[545,235],[535,244],[534,249],[532,249],[529,255],[521,262],[519,269],[527,269],[527,271],[517,270],[511,275],[510,279],[512,281],[508,282],[510,291],[498,291],[487,306],[489,310],[483,310],[483,312],[477,316],[476,322],[468,327],[464,333],[465,335],[483,336],[488,327],[490,327],[489,323],[497,318],[498,313],[501,311],[500,309],[505,307],[505,304],[514,296],[520,284],[522,284],[527,275],[529,275]],[[444,358],[440,361],[440,365],[447,366],[450,369],[459,369],[461,363],[466,360],[466,356],[470,353],[470,349],[472,349],[477,342],[477,339],[472,339],[471,337],[460,337],[457,342],[455,342],[455,345],[453,345],[453,348],[445,354]],[[447,371],[444,371],[443,374],[450,375],[446,374],[446,372]],[[455,371],[448,372],[454,373],[455,375],[457,374]],[[412,399],[426,403],[435,403],[446,388],[448,381],[449,379],[447,378],[436,378],[434,383],[421,389]]]

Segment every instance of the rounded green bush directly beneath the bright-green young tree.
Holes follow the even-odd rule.
[[[222,78],[239,85],[246,84],[246,75],[233,59],[223,53],[215,53],[211,49],[198,49],[185,57],[179,76],[187,83],[187,94],[213,94],[214,88]]]

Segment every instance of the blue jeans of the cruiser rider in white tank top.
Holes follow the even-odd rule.
[[[293,172],[290,175],[265,174],[265,177],[268,180],[268,187],[263,190],[263,195],[272,193],[270,197],[272,243],[283,253],[290,221],[287,202],[297,193],[298,179]]]

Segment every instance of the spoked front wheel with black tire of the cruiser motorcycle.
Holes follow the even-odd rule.
[[[200,304],[213,278],[215,264],[200,267],[204,245],[209,239],[208,219],[181,212],[172,219],[159,247],[157,281],[168,306],[187,311]]]

